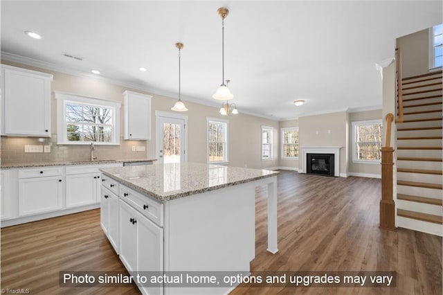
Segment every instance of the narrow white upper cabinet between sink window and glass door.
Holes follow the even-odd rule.
[[[132,91],[123,92],[125,107],[125,139],[151,139],[151,98]]]

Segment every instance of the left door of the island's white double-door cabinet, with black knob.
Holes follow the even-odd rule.
[[[137,225],[136,211],[119,200],[120,204],[120,260],[128,271],[137,270]]]

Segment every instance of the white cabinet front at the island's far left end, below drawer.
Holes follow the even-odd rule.
[[[117,254],[120,253],[119,211],[118,197],[107,188],[102,188],[100,223]]]

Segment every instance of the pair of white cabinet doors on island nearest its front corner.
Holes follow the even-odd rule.
[[[120,260],[128,271],[163,271],[163,229],[120,199]],[[144,294],[163,287],[139,286]]]

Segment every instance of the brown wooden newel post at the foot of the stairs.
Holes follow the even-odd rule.
[[[394,149],[390,147],[390,129],[394,116],[386,115],[386,147],[381,147],[381,201],[380,228],[395,230],[395,204],[392,198],[392,159]]]

